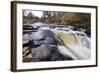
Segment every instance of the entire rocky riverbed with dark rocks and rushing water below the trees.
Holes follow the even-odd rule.
[[[90,59],[90,37],[83,31],[59,27],[24,30],[23,62]]]

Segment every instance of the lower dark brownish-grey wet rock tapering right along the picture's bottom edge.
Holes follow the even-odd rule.
[[[32,59],[34,62],[37,61],[62,61],[62,60],[73,60],[70,56],[64,56],[59,51],[57,46],[50,46],[42,44],[37,48],[32,48]]]

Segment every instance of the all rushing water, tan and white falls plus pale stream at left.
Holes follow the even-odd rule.
[[[34,27],[34,24],[32,26]],[[58,50],[63,55],[70,55],[76,60],[85,60],[91,58],[91,37],[88,37],[84,31],[74,31],[70,29],[70,27],[63,29],[54,26],[52,29],[48,26],[40,26],[38,32],[33,32],[31,35],[25,34],[23,36],[23,42],[27,42],[31,39],[35,40],[37,38],[41,39],[43,37],[41,35],[42,30],[51,30],[57,37],[59,37],[61,44],[58,45]]]

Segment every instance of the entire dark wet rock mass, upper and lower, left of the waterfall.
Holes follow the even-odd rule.
[[[70,56],[64,56],[58,51],[58,42],[51,30],[32,32],[29,37],[31,40],[24,46],[29,46],[33,62],[73,60]]]

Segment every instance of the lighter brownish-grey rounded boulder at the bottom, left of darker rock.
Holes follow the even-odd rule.
[[[48,58],[50,54],[50,49],[47,44],[42,44],[38,47],[31,48],[33,61],[41,61]]]

